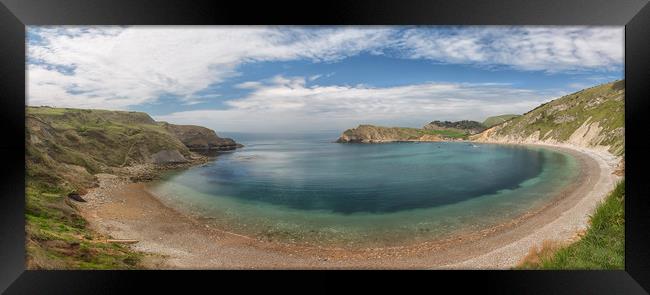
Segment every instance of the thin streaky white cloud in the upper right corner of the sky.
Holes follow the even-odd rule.
[[[409,30],[409,58],[547,72],[612,70],[623,64],[622,27],[470,27]]]

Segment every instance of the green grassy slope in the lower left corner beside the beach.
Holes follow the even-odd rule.
[[[67,191],[32,181],[26,187],[27,267],[30,269],[138,269],[144,254],[87,227]]]

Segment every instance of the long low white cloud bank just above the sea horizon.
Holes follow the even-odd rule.
[[[483,120],[522,113],[560,93],[503,84],[424,83],[376,88],[306,86],[306,78],[275,77],[228,109],[176,112],[157,120],[198,124],[218,131],[344,130],[358,124],[420,127],[432,120]]]

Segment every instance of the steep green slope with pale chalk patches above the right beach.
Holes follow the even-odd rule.
[[[625,81],[572,93],[470,139],[509,143],[568,143],[625,152]]]

